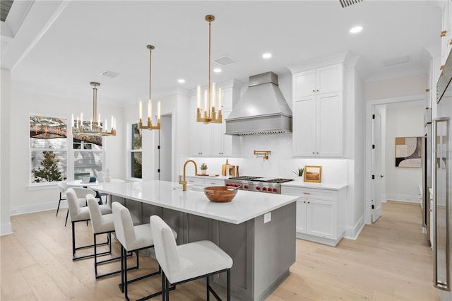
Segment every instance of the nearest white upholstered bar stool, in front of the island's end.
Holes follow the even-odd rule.
[[[162,268],[162,300],[169,300],[169,284],[177,285],[199,278],[206,278],[207,300],[213,293],[209,276],[227,272],[227,300],[231,300],[232,258],[209,240],[176,245],[171,228],[159,216],[150,217],[153,231],[155,257]]]

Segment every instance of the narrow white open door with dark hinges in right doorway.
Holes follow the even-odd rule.
[[[372,223],[375,223],[381,216],[381,116],[374,114],[375,118],[372,122]]]

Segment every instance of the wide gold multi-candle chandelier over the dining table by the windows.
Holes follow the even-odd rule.
[[[100,114],[97,114],[97,87],[100,83],[92,81],[90,85],[93,85],[93,118],[90,122],[83,120],[83,113],[80,117],[77,116],[77,120],[74,119],[72,114],[72,134],[74,135],[93,135],[93,136],[116,136],[116,118],[112,116],[111,128],[108,128],[107,119],[105,123],[100,122]]]

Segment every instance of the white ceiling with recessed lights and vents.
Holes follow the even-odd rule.
[[[438,2],[438,1],[436,1]],[[14,1],[1,22],[1,68],[11,88],[69,100],[92,100],[90,81],[101,83],[98,102],[135,105],[152,95],[208,83],[208,22],[213,14],[212,81],[273,71],[309,59],[350,51],[364,81],[427,73],[439,55],[441,8],[434,1]],[[362,25],[361,33],[350,28]],[[270,59],[263,59],[270,52]],[[383,61],[409,61],[384,66]],[[100,75],[119,73],[117,78]],[[178,83],[184,78],[185,83]]]

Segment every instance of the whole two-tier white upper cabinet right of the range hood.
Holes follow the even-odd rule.
[[[343,64],[293,73],[293,155],[343,156]]]

